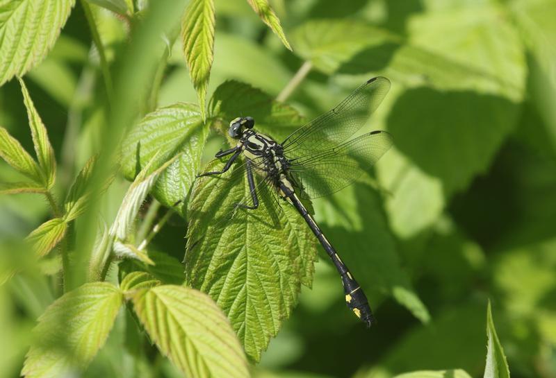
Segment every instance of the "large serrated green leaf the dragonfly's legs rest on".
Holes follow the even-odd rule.
[[[186,284],[214,298],[247,355],[258,361],[290,316],[301,284],[311,283],[315,238],[292,206],[277,212],[269,196],[259,198],[256,211],[238,209],[229,220],[231,209],[250,192],[244,174],[239,181],[227,180],[236,169],[245,173],[239,165],[220,178],[195,183],[188,209]],[[206,169],[222,166],[213,162]]]

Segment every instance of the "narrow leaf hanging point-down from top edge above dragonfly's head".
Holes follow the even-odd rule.
[[[214,59],[214,26],[213,0],[191,0],[181,22],[181,41],[203,119],[206,89]]]

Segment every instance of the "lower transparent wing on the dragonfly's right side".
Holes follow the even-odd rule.
[[[339,146],[294,158],[290,171],[304,190],[302,198],[327,196],[361,177],[391,146],[388,132],[373,131]]]

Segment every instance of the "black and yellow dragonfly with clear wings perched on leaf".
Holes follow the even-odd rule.
[[[379,107],[390,87],[387,78],[371,78],[334,109],[298,128],[281,143],[257,132],[252,117],[238,117],[229,123],[228,129],[228,135],[237,140],[236,146],[215,155],[217,159],[229,156],[226,164],[220,171],[197,175],[197,178],[222,175],[241,160],[243,164],[239,164],[240,169],[236,166],[233,174],[242,180],[247,178],[249,194],[245,201],[236,203],[234,210],[255,212],[260,197],[269,192],[275,196],[278,207],[280,198],[293,205],[336,266],[347,307],[368,327],[374,319],[363,289],[309,213],[304,200],[347,187],[388,151],[393,142],[389,132],[375,130],[353,135]]]

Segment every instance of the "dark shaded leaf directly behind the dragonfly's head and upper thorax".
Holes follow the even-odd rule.
[[[224,135],[227,135],[229,121],[240,116],[253,117],[256,129],[268,133],[277,141],[282,141],[305,123],[305,119],[291,106],[235,80],[222,83],[215,90],[208,111],[211,117],[222,119],[220,130]]]

